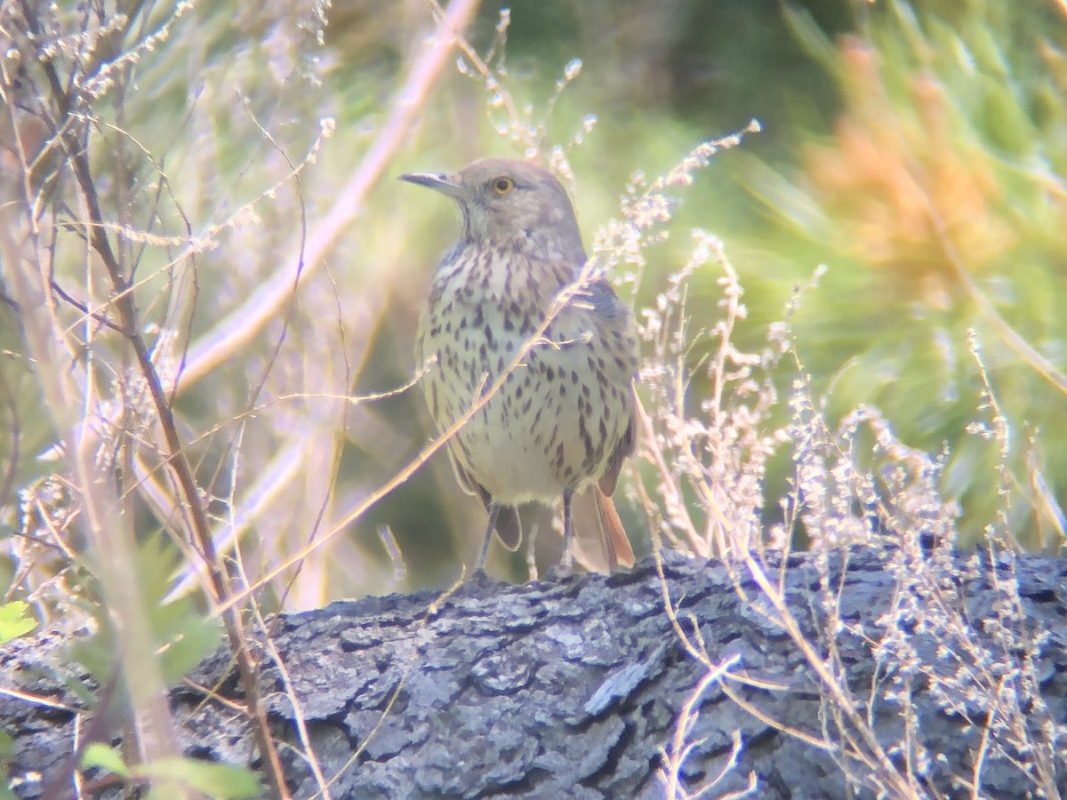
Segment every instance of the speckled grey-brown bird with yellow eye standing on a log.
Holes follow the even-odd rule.
[[[519,548],[519,506],[558,498],[561,572],[573,569],[575,543],[589,569],[633,566],[611,495],[636,445],[636,324],[610,283],[583,271],[567,191],[547,170],[515,159],[400,179],[450,197],[460,212],[459,241],[436,267],[416,333],[437,431],[453,428],[507,373],[448,442],[460,485],[489,515],[476,571],[484,571],[494,531],[507,549]],[[578,511],[592,524],[575,540]]]

